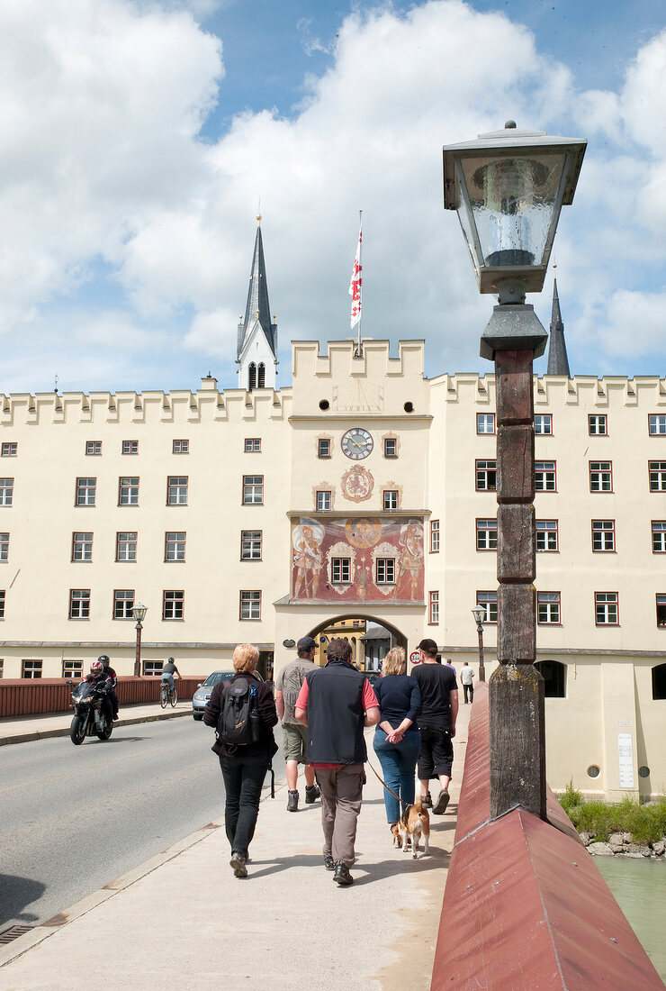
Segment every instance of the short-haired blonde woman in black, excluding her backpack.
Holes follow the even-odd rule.
[[[227,792],[225,827],[227,838],[232,844],[230,864],[236,877],[247,877],[245,861],[259,815],[261,786],[277,750],[272,728],[277,722],[277,711],[271,689],[254,674],[258,660],[259,651],[253,644],[239,643],[234,651],[236,674],[231,682],[220,682],[215,686],[204,711],[206,725],[217,726],[224,705],[224,692],[228,686],[234,685],[238,678],[244,678],[250,688],[256,689],[256,708],[261,723],[259,739],[242,746],[228,746],[216,739],[213,746],[213,751],[220,757]]]

